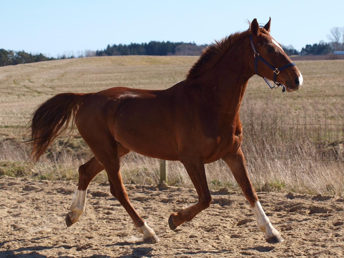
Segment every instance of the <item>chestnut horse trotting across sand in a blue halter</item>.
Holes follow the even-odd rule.
[[[88,184],[105,169],[111,194],[126,209],[143,240],[159,241],[131,205],[122,183],[120,157],[132,150],[148,157],[179,160],[185,166],[198,202],[171,214],[168,222],[172,230],[210,205],[204,164],[223,159],[252,207],[265,239],[269,243],[283,241],[259,203],[240,147],[243,131],[239,108],[249,78],[257,73],[284,85],[288,92],[302,85],[298,68],[270,36],[270,21],[260,27],[254,19],[247,31],[209,45],[186,79],[171,88],[115,87],[97,93],[63,93],[35,110],[30,140],[34,160],[74,118],[94,153],[79,167],[78,189],[66,215],[68,227],[85,211]]]

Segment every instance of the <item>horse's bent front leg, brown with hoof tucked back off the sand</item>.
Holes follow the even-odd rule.
[[[196,188],[198,202],[171,214],[169,218],[169,226],[172,230],[176,229],[176,227],[186,221],[191,221],[191,219],[193,219],[198,213],[209,207],[212,200],[205,176],[204,163],[202,161],[195,160],[181,162]]]

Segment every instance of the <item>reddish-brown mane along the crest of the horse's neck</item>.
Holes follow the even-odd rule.
[[[268,32],[264,28],[261,28],[260,31],[264,34],[268,34]],[[203,50],[203,53],[201,54],[200,58],[198,58],[197,62],[194,63],[194,65],[190,68],[189,73],[186,76],[186,79],[194,79],[203,74],[213,65],[215,65],[220,60],[220,58],[226,53],[226,51],[230,49],[230,47],[232,47],[236,42],[250,34],[251,29],[249,28],[246,31],[236,32],[229,36],[226,36],[220,41],[215,40],[215,43],[212,43]]]

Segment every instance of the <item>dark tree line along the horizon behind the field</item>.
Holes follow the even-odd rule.
[[[330,42],[320,41],[319,43],[307,44],[301,51],[294,49],[292,45],[282,48],[287,55],[325,55],[333,51],[344,51],[344,27],[334,27],[327,35]],[[197,45],[196,43],[171,42],[171,41],[150,41],[149,43],[130,43],[130,44],[108,44],[104,50],[85,50],[77,57],[88,56],[111,56],[111,55],[200,55],[206,45]],[[47,57],[42,53],[31,54],[25,51],[13,51],[0,49],[0,66],[26,64],[41,61],[50,61],[56,59],[74,58],[74,54],[69,57],[62,56]]]

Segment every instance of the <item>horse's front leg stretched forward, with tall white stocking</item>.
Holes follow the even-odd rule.
[[[269,218],[265,215],[265,212],[263,211],[259,203],[256,191],[248,178],[245,157],[241,148],[239,149],[237,154],[227,154],[222,159],[229,166],[235,180],[238,182],[239,186],[243,190],[245,197],[251,205],[253,213],[256,216],[258,228],[265,233],[266,241],[268,243],[282,242],[283,238],[271,225]]]

